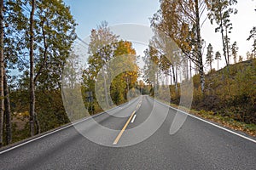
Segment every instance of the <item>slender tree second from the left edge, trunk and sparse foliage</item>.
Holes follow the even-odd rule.
[[[5,124],[5,144],[12,141],[11,107],[9,97],[9,87],[13,86],[17,76],[9,74],[12,70],[24,71],[26,63],[23,62],[26,48],[26,24],[27,19],[22,13],[22,2],[20,0],[4,1],[4,35],[3,35],[3,55],[4,55],[4,124]]]

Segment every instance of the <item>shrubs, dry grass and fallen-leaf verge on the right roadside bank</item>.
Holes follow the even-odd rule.
[[[201,93],[199,75],[193,77],[194,94],[189,113],[256,136],[256,59],[230,65],[230,72],[226,69],[212,70],[206,75],[205,94]],[[175,92],[175,85],[170,89],[170,102],[164,94],[158,94],[158,99],[177,108],[180,91]]]

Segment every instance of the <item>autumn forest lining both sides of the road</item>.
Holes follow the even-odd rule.
[[[79,65],[74,51],[78,24],[70,8],[62,0],[0,1],[0,147],[84,117],[71,118],[79,108],[67,108],[63,102],[67,85],[63,72],[68,69],[74,82],[71,88],[78,88],[90,115],[140,94],[182,105],[181,86],[192,81],[192,114],[255,136],[256,26],[244,37],[252,42],[252,50],[238,56],[239,44],[230,39],[230,15],[239,12],[236,3],[160,0],[160,9],[149,19],[154,37],[143,56],[102,21],[91,28],[89,57],[76,80],[71,72]],[[223,51],[214,51],[211,42],[201,37],[203,14],[217,24]],[[207,44],[206,54],[203,44]],[[143,59],[143,68],[138,59]],[[213,68],[213,62],[225,62],[225,66]]]

